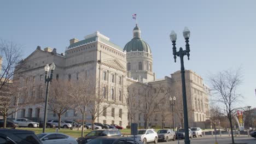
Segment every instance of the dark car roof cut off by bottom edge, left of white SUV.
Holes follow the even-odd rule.
[[[135,141],[136,144],[142,144],[140,141]],[[119,144],[119,143],[126,143],[126,144],[134,144],[135,143],[133,138],[131,137],[123,137],[123,136],[102,136],[97,137],[94,140],[88,142],[88,144]]]

